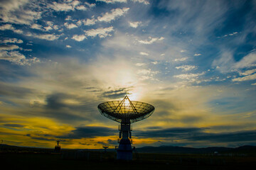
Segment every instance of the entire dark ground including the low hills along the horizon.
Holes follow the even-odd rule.
[[[155,150],[156,149],[156,150]],[[60,153],[53,149],[1,146],[1,169],[255,169],[255,147],[236,149],[207,148],[203,152],[183,153],[184,148],[166,147],[169,153],[159,152],[162,148],[144,148],[144,152],[134,153],[133,161],[117,161],[114,149],[63,149]],[[175,151],[176,149],[176,151]],[[182,149],[182,152],[180,151]],[[218,149],[218,153],[212,150]],[[145,152],[147,151],[147,152]],[[154,151],[154,153],[153,153]],[[176,153],[172,153],[175,151]]]

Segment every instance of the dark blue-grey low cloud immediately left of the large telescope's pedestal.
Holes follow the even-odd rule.
[[[114,135],[117,130],[112,128],[102,127],[102,126],[84,126],[75,128],[68,135],[57,136],[63,139],[82,139],[82,138],[92,138],[92,137],[107,137]]]

